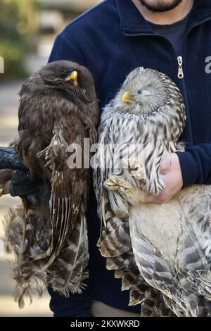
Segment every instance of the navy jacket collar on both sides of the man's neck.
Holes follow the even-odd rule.
[[[123,32],[153,34],[153,28],[138,11],[132,0],[115,0],[120,16],[120,26]],[[191,10],[188,29],[206,20],[211,20],[211,1],[195,0]]]

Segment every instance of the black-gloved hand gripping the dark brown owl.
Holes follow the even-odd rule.
[[[9,186],[11,196],[25,198],[34,206],[39,206],[42,192],[48,190],[46,199],[49,199],[50,187],[46,188],[43,182],[28,170],[18,158],[15,147],[0,147],[0,169],[14,169]]]

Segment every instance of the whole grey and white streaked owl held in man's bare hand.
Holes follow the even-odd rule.
[[[98,128],[98,246],[142,316],[211,314],[211,187],[193,185],[165,204],[143,204],[146,192],[156,196],[165,187],[162,158],[184,151],[178,139],[185,120],[170,77],[136,68]]]

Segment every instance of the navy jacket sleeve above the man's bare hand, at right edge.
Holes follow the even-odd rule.
[[[177,152],[183,188],[192,184],[211,184],[211,142],[186,147]]]

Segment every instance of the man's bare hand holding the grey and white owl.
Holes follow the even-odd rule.
[[[170,153],[161,161],[160,174],[164,182],[165,189],[158,196],[147,194],[144,203],[153,202],[155,204],[164,204],[175,196],[183,185],[179,157],[176,153]]]

